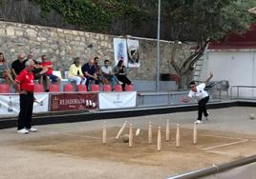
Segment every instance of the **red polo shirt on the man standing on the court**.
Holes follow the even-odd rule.
[[[33,74],[28,70],[22,70],[15,78],[15,81],[20,84],[20,90],[33,92]]]

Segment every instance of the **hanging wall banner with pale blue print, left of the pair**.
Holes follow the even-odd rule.
[[[115,65],[119,60],[123,60],[124,66],[127,67],[127,44],[124,38],[114,38]]]

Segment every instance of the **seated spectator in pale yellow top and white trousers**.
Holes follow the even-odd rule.
[[[68,79],[71,81],[75,81],[76,85],[85,85],[87,80],[81,70],[79,57],[76,57],[74,60],[74,64],[71,65]]]

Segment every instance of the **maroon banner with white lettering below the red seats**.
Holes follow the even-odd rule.
[[[97,95],[95,92],[52,94],[51,111],[98,109]]]

